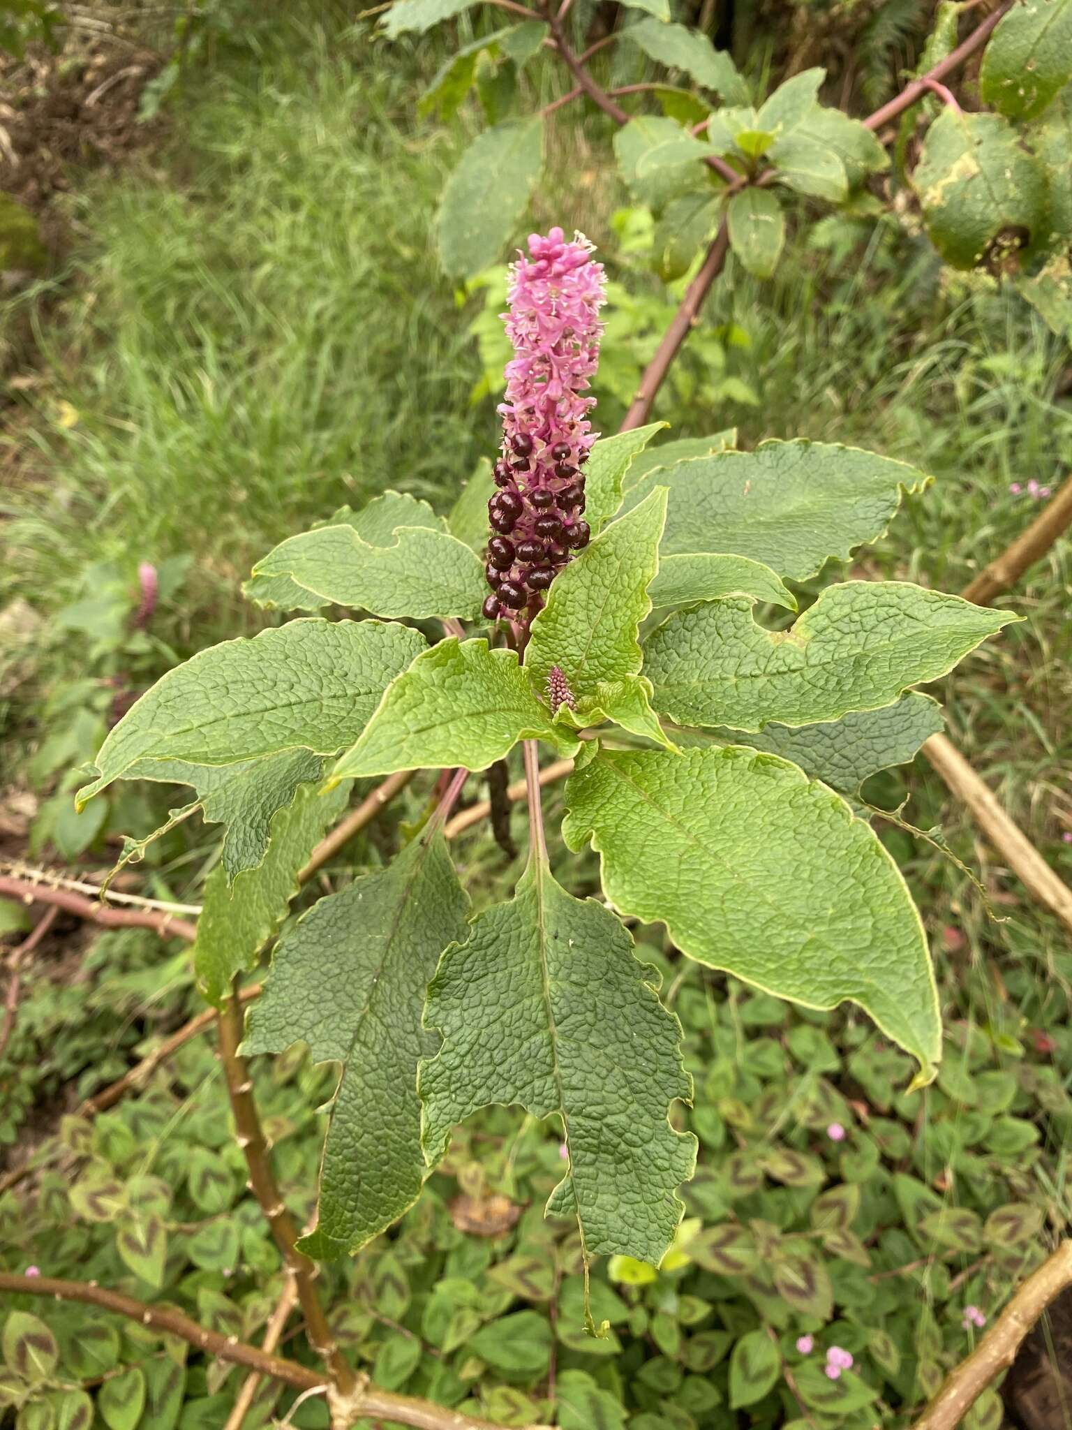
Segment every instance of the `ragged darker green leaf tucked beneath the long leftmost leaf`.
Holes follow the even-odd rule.
[[[163,784],[193,785],[202,818],[207,824],[224,825],[220,862],[233,879],[243,869],[254,869],[269,845],[272,817],[294,798],[299,785],[323,774],[324,756],[310,749],[284,749],[279,755],[242,759],[233,765],[194,765],[186,759],[139,759],[126,774],[127,779],[156,779]],[[172,811],[176,814],[186,811]],[[131,854],[142,857],[146,845],[172,821],[156,829],[147,839],[131,841],[120,862]]]

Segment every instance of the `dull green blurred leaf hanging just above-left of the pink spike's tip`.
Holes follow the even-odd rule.
[[[507,119],[486,129],[447,179],[436,217],[447,273],[490,267],[517,230],[543,166],[543,122]]]

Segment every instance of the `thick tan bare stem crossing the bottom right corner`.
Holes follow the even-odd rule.
[[[1028,1331],[1051,1301],[1072,1286],[1072,1241],[1062,1241],[1021,1286],[972,1354],[951,1370],[913,1430],[953,1430],[991,1381],[1016,1358]]]

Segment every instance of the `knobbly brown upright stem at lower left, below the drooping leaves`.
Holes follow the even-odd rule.
[[[237,998],[229,998],[219,1014],[220,1061],[227,1083],[227,1094],[234,1115],[237,1141],[246,1157],[249,1184],[267,1220],[283,1261],[294,1277],[297,1298],[306,1318],[309,1341],[327,1366],[332,1380],[343,1394],[352,1394],[357,1377],[339,1350],[316,1290],[317,1268],[297,1250],[297,1227],[287,1211],[272,1170],[267,1143],[253,1101],[253,1080],[249,1065],[239,1052],[243,1034],[243,1012]]]

